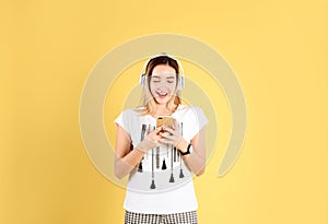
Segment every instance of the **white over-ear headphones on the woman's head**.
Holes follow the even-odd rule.
[[[142,70],[141,70],[141,76],[140,76],[140,86],[141,87],[144,87],[145,85],[145,69],[148,67],[148,64],[150,63],[151,60],[155,59],[155,58],[159,58],[159,57],[167,57],[167,58],[171,58],[173,60],[175,60],[178,64],[178,86],[177,86],[177,90],[181,90],[183,87],[185,87],[185,79],[184,79],[184,68],[183,68],[183,64],[173,56],[171,55],[167,55],[165,52],[161,52],[159,55],[155,55],[153,57],[151,57],[142,67]]]

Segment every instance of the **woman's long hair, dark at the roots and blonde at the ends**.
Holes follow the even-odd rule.
[[[180,82],[179,75],[181,75],[181,69],[179,68],[179,63],[172,57],[166,56],[166,55],[161,55],[159,57],[152,58],[147,67],[145,67],[145,82],[144,82],[144,87],[143,87],[143,93],[142,93],[142,98],[141,98],[141,104],[142,104],[142,115],[153,115],[156,111],[156,102],[151,94],[150,90],[150,80],[149,79],[152,75],[153,69],[159,66],[159,64],[167,64],[172,67],[175,72],[176,72],[176,90],[177,86],[179,85],[178,82]],[[181,104],[181,91],[177,90],[176,94],[171,97],[171,99],[167,103],[167,109],[171,113],[174,113],[175,109],[178,107],[179,104]]]

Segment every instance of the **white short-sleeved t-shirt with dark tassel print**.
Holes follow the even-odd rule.
[[[190,142],[208,122],[199,107],[185,105],[179,105],[172,117],[178,121],[187,142]],[[156,118],[150,115],[141,116],[138,109],[127,109],[115,119],[115,122],[126,130],[136,148],[142,137],[155,128]],[[126,210],[145,214],[197,210],[192,174],[172,145],[162,145],[148,151],[139,167],[139,170],[137,167],[129,177],[124,203]]]

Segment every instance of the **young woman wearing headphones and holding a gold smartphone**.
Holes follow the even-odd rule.
[[[208,120],[199,107],[181,105],[177,59],[156,55],[143,70],[143,105],[115,120],[115,175],[129,175],[125,223],[198,223],[192,174],[204,172]],[[173,122],[157,127],[163,116]]]

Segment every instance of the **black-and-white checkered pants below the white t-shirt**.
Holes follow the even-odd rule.
[[[174,214],[142,214],[126,211],[125,224],[197,224],[196,211]]]

